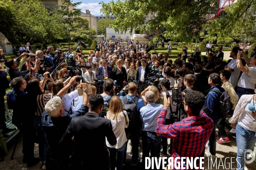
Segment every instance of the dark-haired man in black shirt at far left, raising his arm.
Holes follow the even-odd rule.
[[[26,74],[28,74],[30,72],[30,64],[27,65],[26,71],[18,71],[17,70],[18,63],[20,62],[22,57],[25,57],[25,56],[26,56],[26,53],[23,53],[16,60],[6,59],[4,64],[6,65],[6,67],[9,68],[8,74],[10,75],[11,80],[16,78],[16,77],[21,77],[21,76],[24,77]],[[31,61],[30,57],[27,58],[27,63],[30,63],[30,61]]]

